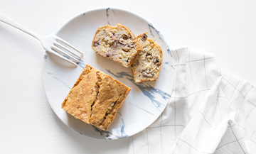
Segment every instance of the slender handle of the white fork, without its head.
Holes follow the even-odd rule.
[[[33,36],[34,38],[40,40],[41,35],[38,35],[36,33],[33,33],[32,31],[29,31],[27,28],[21,26],[20,24],[12,21],[10,18],[7,18],[6,16],[4,16],[3,14],[0,13],[0,21],[8,24],[9,26],[13,26],[14,28],[17,28],[18,30],[21,30],[25,33],[27,33],[28,35]]]

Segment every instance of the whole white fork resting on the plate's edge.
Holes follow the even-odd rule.
[[[82,53],[78,49],[76,49],[73,45],[70,45],[70,43],[63,40],[62,38],[59,38],[56,35],[41,36],[36,33],[33,33],[32,31],[29,31],[27,28],[24,28],[23,26],[12,21],[11,19],[7,18],[1,13],[0,13],[0,21],[10,26],[13,26],[14,28],[17,28],[18,30],[28,33],[34,38],[40,40],[43,48],[47,52],[53,53],[54,55],[62,58],[63,60],[70,62],[75,66],[77,66],[79,60],[81,60]]]

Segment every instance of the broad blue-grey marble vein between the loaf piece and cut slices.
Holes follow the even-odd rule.
[[[171,94],[168,94],[164,91],[161,91],[161,89],[155,89],[154,87],[151,87],[151,85],[149,85],[146,82],[144,82],[144,83],[135,82],[132,75],[129,75],[128,72],[117,72],[116,75],[114,73],[112,73],[110,70],[107,70],[107,72],[114,75],[114,77],[117,77],[117,78],[124,78],[125,77],[126,79],[128,79],[130,82],[132,82],[134,85],[136,85],[139,89],[141,89],[143,94],[146,97],[151,99],[151,102],[154,104],[154,106],[156,106],[156,109],[158,109],[159,111],[160,111],[160,108],[164,106],[164,104],[161,104],[161,102],[157,101],[155,99],[154,95],[155,94],[160,94],[161,97],[164,98],[166,101],[168,101],[171,98]]]

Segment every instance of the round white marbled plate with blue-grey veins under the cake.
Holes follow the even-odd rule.
[[[115,26],[117,23],[127,26],[135,35],[149,32],[149,38],[161,46],[164,55],[156,82],[136,83],[130,67],[123,67],[117,62],[97,55],[92,50],[92,39],[97,28],[108,24]],[[144,18],[121,9],[97,9],[75,16],[60,28],[57,35],[84,53],[78,67],[50,53],[44,56],[42,77],[46,97],[55,114],[68,127],[91,138],[103,140],[126,138],[144,130],[164,111],[174,85],[173,58],[164,37]],[[114,121],[110,124],[109,131],[101,131],[75,119],[61,109],[62,102],[86,64],[132,87]]]

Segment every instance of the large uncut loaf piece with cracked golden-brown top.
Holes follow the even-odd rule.
[[[85,69],[62,104],[68,114],[107,131],[131,88],[90,65]]]

